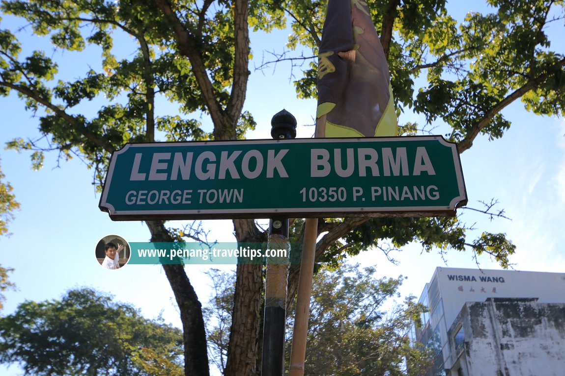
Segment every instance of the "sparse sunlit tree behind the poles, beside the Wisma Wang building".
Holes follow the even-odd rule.
[[[405,279],[376,278],[375,268],[341,264],[322,268],[312,284],[306,375],[403,375],[406,360],[412,372],[425,373],[430,357],[411,347],[408,331],[418,323],[425,307],[407,297],[401,304],[389,302],[399,297]],[[231,324],[235,276],[217,269],[208,273],[214,295],[205,307],[211,360],[224,371],[228,348],[226,330]],[[292,335],[294,304],[287,310],[287,337]],[[289,338],[290,339],[290,338]],[[286,355],[290,355],[287,341]],[[288,362],[287,357],[287,362]]]

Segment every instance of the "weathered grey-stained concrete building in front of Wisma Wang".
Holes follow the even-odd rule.
[[[489,299],[463,308],[471,376],[565,375],[565,304],[527,300]]]

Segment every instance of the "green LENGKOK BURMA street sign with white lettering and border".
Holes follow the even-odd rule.
[[[127,144],[99,207],[113,220],[453,216],[467,204],[441,136]]]

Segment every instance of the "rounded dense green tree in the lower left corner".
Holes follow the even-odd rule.
[[[0,319],[0,361],[35,375],[181,375],[182,333],[84,288]]]

